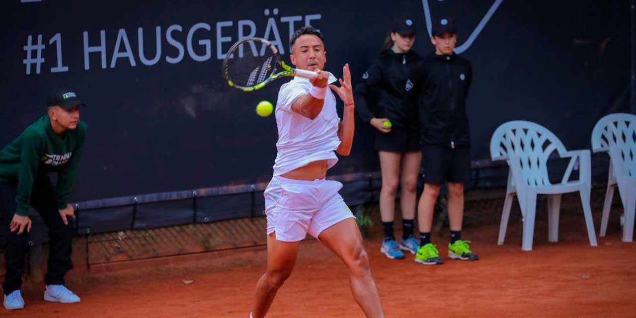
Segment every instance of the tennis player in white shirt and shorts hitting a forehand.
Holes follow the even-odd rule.
[[[343,67],[340,87],[329,85],[336,79],[322,71],[327,60],[322,34],[314,27],[303,27],[294,32],[290,44],[292,64],[317,75],[294,77],[280,88],[275,110],[278,155],[265,190],[267,269],[256,283],[251,317],[265,317],[276,292],[291,275],[307,233],[343,260],[354,298],[366,317],[384,317],[356,219],[338,194],[342,184],[325,179],[327,170],[338,162],[336,153],[349,155],[353,142],[349,65]],[[342,123],[331,91],[345,104]]]

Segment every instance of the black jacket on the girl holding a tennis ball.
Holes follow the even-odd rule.
[[[388,49],[380,53],[354,90],[356,114],[364,123],[371,118],[387,118],[393,126],[419,128],[415,104],[404,102],[404,87],[411,69],[420,60],[422,57],[413,50],[399,54]],[[377,107],[370,107],[366,98],[377,94]]]

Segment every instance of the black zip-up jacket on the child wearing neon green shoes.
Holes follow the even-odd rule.
[[[470,144],[466,97],[471,81],[471,63],[455,53],[433,52],[413,68],[405,97],[406,102],[417,104],[422,144]]]

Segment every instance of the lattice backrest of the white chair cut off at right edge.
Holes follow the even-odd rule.
[[[592,130],[592,150],[609,151],[614,169],[623,169],[618,174],[636,176],[636,115],[616,113],[601,118]]]

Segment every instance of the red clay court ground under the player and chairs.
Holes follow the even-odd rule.
[[[469,228],[464,239],[473,239],[482,259],[442,266],[418,265],[411,255],[387,259],[375,234],[366,247],[387,317],[636,317],[636,243],[621,242],[618,226],[611,226],[609,236],[590,247],[583,216],[562,217],[561,225],[560,242],[551,244],[545,224],[537,223],[532,252],[520,249],[520,223],[511,224],[502,246],[496,245],[498,226]],[[447,239],[434,242],[445,245]],[[249,317],[265,257],[257,247],[75,277],[67,284],[82,303],[73,305],[47,303],[43,286],[31,286],[23,291],[27,308],[0,310],[0,317]],[[268,317],[363,314],[344,266],[310,240],[301,245],[296,270]]]

